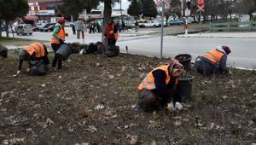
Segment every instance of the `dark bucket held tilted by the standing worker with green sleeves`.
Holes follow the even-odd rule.
[[[69,44],[61,44],[60,48],[56,51],[60,61],[66,61],[68,56],[73,52],[72,46]]]

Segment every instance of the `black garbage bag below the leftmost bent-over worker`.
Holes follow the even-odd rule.
[[[47,66],[43,60],[29,61],[30,75],[42,76],[47,73]]]

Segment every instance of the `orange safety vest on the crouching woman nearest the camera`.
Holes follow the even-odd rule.
[[[146,76],[146,78],[143,79],[143,82],[141,84],[139,84],[138,86],[138,90],[154,90],[156,88],[155,86],[155,82],[154,82],[154,75],[153,72],[157,69],[163,70],[166,72],[166,85],[169,83],[171,77],[169,75],[169,69],[168,69],[169,65],[164,65],[161,67],[157,67],[155,68],[153,71],[151,71],[150,73],[148,73],[148,75]],[[175,84],[177,84],[177,78],[175,79]]]

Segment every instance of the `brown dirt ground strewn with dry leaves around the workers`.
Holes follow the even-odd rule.
[[[32,77],[17,52],[0,59],[0,144],[251,144],[256,142],[256,72],[203,78],[195,71],[182,111],[143,113],[137,85],[166,63],[141,55],[71,55]],[[50,61],[53,55],[49,56]]]

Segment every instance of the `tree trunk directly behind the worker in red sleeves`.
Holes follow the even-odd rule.
[[[112,13],[112,0],[104,0],[104,11],[103,11],[103,26],[102,26],[102,38],[105,34],[106,27],[108,25],[108,21],[111,20]],[[102,39],[103,40],[103,39]]]

